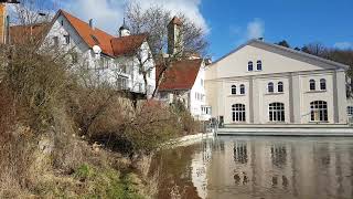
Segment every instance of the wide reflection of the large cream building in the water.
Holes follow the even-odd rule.
[[[208,197],[350,198],[353,151],[340,146],[265,139],[225,143],[224,153],[212,156]]]

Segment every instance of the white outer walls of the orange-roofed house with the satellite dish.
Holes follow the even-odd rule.
[[[63,24],[62,24],[63,21]],[[71,43],[65,43],[65,36],[69,35]],[[92,72],[97,75],[100,81],[108,81],[113,84],[116,84],[118,76],[125,76],[128,78],[128,87],[132,92],[143,93],[145,92],[145,81],[143,76],[139,74],[139,66],[137,64],[136,57],[131,56],[119,56],[111,57],[101,53],[100,55],[96,55],[93,53],[92,49],[83,41],[83,39],[77,34],[75,29],[69,24],[65,17],[58,15],[57,20],[54,22],[51,28],[49,34],[45,38],[45,45],[53,45],[53,38],[58,38],[58,49],[62,51],[75,51],[77,52],[78,64],[77,66],[87,65],[88,69],[92,69]],[[43,48],[44,50],[45,48]],[[147,42],[143,42],[141,45],[142,61],[148,59],[148,53],[150,52],[149,45]],[[104,69],[100,62],[100,57],[105,59],[108,63],[108,67]],[[69,62],[71,60],[68,60]],[[119,70],[122,65],[127,66],[127,73],[122,73]],[[100,70],[95,70],[95,69]],[[151,95],[156,87],[156,69],[154,62],[150,59],[145,63],[146,69],[151,69],[151,75],[148,77],[148,86],[150,90],[148,91],[148,95]],[[142,85],[141,91],[139,84]]]

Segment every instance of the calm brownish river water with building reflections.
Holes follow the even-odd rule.
[[[353,198],[353,138],[218,137],[164,149],[158,198]]]

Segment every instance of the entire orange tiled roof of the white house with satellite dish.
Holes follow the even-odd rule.
[[[132,53],[136,49],[140,48],[142,42],[147,39],[147,34],[116,38],[100,29],[90,28],[87,22],[82,21],[64,10],[60,10],[60,12],[63,13],[89,48],[99,45],[103,53],[110,56]]]

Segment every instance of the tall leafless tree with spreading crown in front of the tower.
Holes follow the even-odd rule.
[[[141,71],[147,85],[147,75],[156,69],[157,84],[152,93],[156,97],[159,85],[164,78],[165,71],[173,66],[175,61],[189,59],[193,54],[205,55],[207,42],[205,40],[205,32],[197,27],[193,21],[188,19],[183,13],[178,14],[179,33],[175,35],[175,45],[173,51],[168,52],[168,24],[171,22],[173,15],[171,11],[152,6],[143,10],[140,4],[131,3],[127,9],[127,22],[131,29],[132,34],[147,33],[147,42],[151,53],[142,53],[145,49],[138,49],[133,52],[138,60],[138,67]],[[156,64],[150,64],[151,61]],[[146,90],[147,93],[147,90]]]

